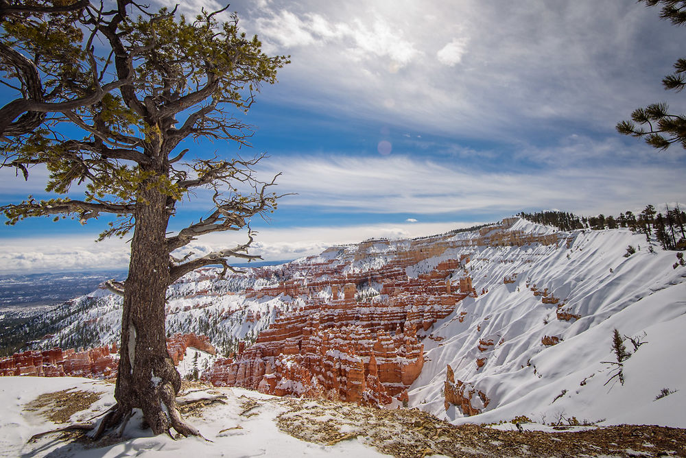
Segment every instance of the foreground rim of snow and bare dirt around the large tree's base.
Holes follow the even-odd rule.
[[[453,426],[418,409],[277,398],[256,391],[186,387],[186,419],[203,437],[150,435],[134,415],[120,437],[97,442],[56,430],[100,417],[111,383],[84,378],[0,378],[2,457],[550,457],[686,456],[686,434],[658,426]],[[583,431],[580,434],[571,431]]]

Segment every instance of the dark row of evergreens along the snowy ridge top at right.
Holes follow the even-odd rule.
[[[617,216],[577,216],[569,212],[542,211],[538,213],[519,213],[519,217],[534,223],[555,226],[560,230],[573,229],[616,229],[629,228],[646,235],[646,240],[654,237],[664,250],[686,250],[686,213],[676,205],[665,205],[665,212],[659,213],[652,205],[646,206],[638,215],[630,211]]]

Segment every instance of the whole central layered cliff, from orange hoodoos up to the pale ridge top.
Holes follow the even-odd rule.
[[[506,231],[516,221],[483,228],[477,237],[373,239],[290,263],[287,280],[248,289],[246,298],[290,296],[300,301],[298,310],[276,317],[255,345],[220,359],[202,378],[277,395],[406,400],[424,363],[421,339],[460,300],[478,296],[464,248],[559,242],[556,234]],[[371,296],[369,285],[376,285]]]

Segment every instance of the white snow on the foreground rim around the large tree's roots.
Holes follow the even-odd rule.
[[[174,440],[167,435],[152,436],[150,430],[140,428],[141,418],[130,420],[123,432],[123,440],[117,444],[88,448],[91,444],[69,442],[55,433],[29,442],[34,434],[44,433],[65,426],[48,420],[45,412],[64,407],[47,405],[37,410],[31,402],[41,394],[69,390],[94,392],[102,397],[90,408],[79,411],[71,422],[91,418],[113,405],[114,385],[86,378],[43,378],[43,377],[0,377],[0,456],[2,457],[74,457],[74,458],[121,458],[121,457],[382,457],[374,448],[362,440],[351,439],[334,446],[304,442],[279,430],[275,419],[287,411],[278,403],[259,403],[270,398],[244,389],[212,389],[212,393],[223,396],[223,404],[211,408],[211,415],[189,416],[189,421],[206,438],[190,437]],[[192,390],[191,390],[192,391]],[[205,392],[191,392],[184,399],[193,396],[207,396]],[[250,411],[243,413],[250,406]],[[241,415],[241,413],[243,413]],[[251,415],[252,414],[252,415]]]

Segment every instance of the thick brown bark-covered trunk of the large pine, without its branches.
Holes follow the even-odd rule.
[[[167,196],[154,186],[141,185],[137,195],[136,227],[124,289],[121,346],[114,415],[108,426],[123,429],[132,409],[141,409],[154,434],[198,435],[180,418],[176,395],[181,379],[167,351],[165,295],[169,285],[169,255],[165,231]],[[121,431],[121,430],[120,430]]]

